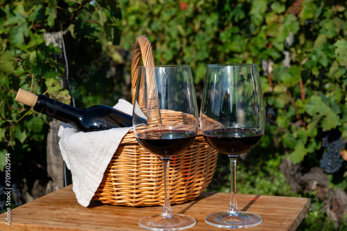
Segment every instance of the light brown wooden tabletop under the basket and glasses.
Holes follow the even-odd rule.
[[[197,223],[188,230],[229,230],[205,223],[212,212],[226,211],[230,194],[203,192],[196,200],[172,205],[174,213],[193,216]],[[242,230],[296,230],[310,209],[310,200],[282,196],[237,194],[237,205],[242,211],[262,216],[263,223]],[[10,210],[11,225],[6,225],[6,214],[0,214],[0,230],[144,230],[139,219],[160,214],[162,207],[124,207],[104,205],[92,200],[89,207],[77,203],[72,186]]]

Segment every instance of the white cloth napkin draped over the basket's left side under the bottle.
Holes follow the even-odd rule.
[[[124,99],[119,99],[113,108],[133,114],[133,105]],[[87,207],[90,204],[121,139],[132,128],[76,132],[72,126],[62,123],[58,131],[60,151],[71,171],[72,189],[80,205]]]

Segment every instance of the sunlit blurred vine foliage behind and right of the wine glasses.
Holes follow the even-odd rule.
[[[257,63],[268,111],[266,133],[251,157],[239,161],[239,192],[308,196],[314,212],[301,230],[334,229],[316,192],[291,191],[279,166],[282,158],[307,169],[320,166],[325,135],[337,133],[347,141],[346,1],[119,3],[121,46],[131,49],[134,38],[145,34],[156,64],[192,66],[198,96],[207,64]],[[347,190],[346,160],[329,174],[330,187]],[[228,160],[220,157],[209,190],[230,191],[228,176]]]

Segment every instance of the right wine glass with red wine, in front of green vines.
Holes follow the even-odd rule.
[[[228,155],[231,198],[227,212],[205,217],[220,228],[247,228],[262,223],[256,214],[240,212],[236,202],[237,157],[256,146],[265,129],[265,109],[255,64],[208,65],[201,101],[201,132],[206,142]]]

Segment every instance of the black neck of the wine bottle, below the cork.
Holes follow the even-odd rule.
[[[81,121],[83,116],[83,110],[42,95],[38,96],[33,109],[36,112],[46,114],[64,123],[76,123],[78,120]]]

